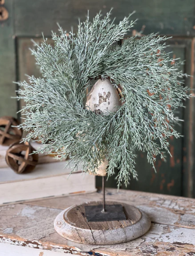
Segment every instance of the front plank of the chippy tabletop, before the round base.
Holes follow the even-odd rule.
[[[172,231],[174,234],[172,236]],[[73,255],[132,256],[132,255],[193,255],[195,252],[194,232],[189,229],[172,229],[170,226],[153,224],[145,236],[118,245],[83,245],[65,240],[56,233],[42,240],[24,240],[18,236],[0,234],[0,241],[9,245],[45,249]],[[165,240],[165,241],[163,241]],[[56,242],[57,241],[57,242]],[[1,245],[1,243],[0,243]],[[34,250],[36,252],[36,250]],[[34,252],[34,253],[35,253]],[[188,254],[187,254],[188,253]],[[35,254],[34,254],[35,255]],[[64,255],[64,254],[63,254]],[[97,254],[98,255],[98,254]]]

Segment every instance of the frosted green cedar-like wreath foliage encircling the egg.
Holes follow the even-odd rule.
[[[54,47],[44,39],[32,50],[43,78],[18,83],[18,98],[26,102],[20,126],[29,131],[23,140],[38,137],[45,144],[39,152],[69,156],[73,171],[81,162],[83,171],[95,172],[106,157],[109,176],[120,170],[119,185],[127,185],[131,174],[137,178],[136,150],[147,152],[154,167],[156,155],[163,158],[168,151],[167,138],[180,137],[173,111],[189,97],[182,82],[186,75],[165,53],[166,37],[151,34],[115,44],[131,27],[129,17],[115,25],[107,13],[92,22],[87,17],[77,34],[59,28],[60,35],[52,34]],[[86,89],[97,76],[122,87],[122,106],[115,113],[102,116],[85,107]]]

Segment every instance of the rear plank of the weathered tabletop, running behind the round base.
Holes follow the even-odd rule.
[[[30,202],[31,205],[66,209],[73,204],[82,204],[94,200],[102,200],[102,193],[73,195],[69,197],[48,198]],[[136,192],[131,190],[106,189],[106,200],[115,200],[131,204],[144,210],[151,221],[184,228],[195,228],[195,199],[158,195],[155,193]]]

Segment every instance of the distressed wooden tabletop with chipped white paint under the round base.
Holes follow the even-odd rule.
[[[127,243],[83,245],[54,231],[54,218],[62,209],[101,198],[102,193],[95,192],[1,206],[1,256],[195,255],[195,199],[192,198],[107,189],[107,200],[135,205],[151,218],[148,233]]]

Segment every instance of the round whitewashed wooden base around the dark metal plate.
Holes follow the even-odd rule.
[[[63,210],[54,221],[57,233],[77,243],[109,245],[131,241],[144,235],[150,228],[151,221],[145,212],[121,202],[106,204],[121,204],[127,217],[125,221],[87,222],[85,206],[99,204],[102,202],[89,202]]]

